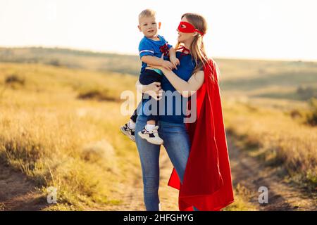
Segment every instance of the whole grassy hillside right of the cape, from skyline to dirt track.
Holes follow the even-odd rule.
[[[309,103],[317,98],[317,63],[217,62],[228,132],[281,179],[316,194],[317,128],[308,118],[317,113]]]

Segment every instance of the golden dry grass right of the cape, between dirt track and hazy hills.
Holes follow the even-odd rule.
[[[317,127],[295,120],[287,111],[254,107],[251,101],[227,101],[225,124],[267,165],[282,166],[282,173],[313,191],[317,184]]]

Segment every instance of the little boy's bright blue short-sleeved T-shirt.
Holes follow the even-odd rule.
[[[166,39],[163,36],[158,35],[158,41],[154,41],[147,37],[143,37],[142,40],[139,42],[139,57],[142,56],[156,56],[161,58],[162,53],[168,51],[172,46],[168,44]],[[164,60],[168,60],[168,56],[164,56]],[[144,72],[145,68],[147,67],[147,63],[142,62],[141,73]]]

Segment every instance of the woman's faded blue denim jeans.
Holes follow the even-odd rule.
[[[142,167],[144,203],[148,211],[159,211],[159,155],[160,147],[151,144],[137,135],[147,124],[147,117],[142,115],[137,117],[135,127],[135,142]],[[163,146],[166,148],[168,157],[180,177],[184,177],[187,159],[190,150],[189,136],[185,124],[177,124],[160,121],[159,136],[163,139]],[[195,210],[197,210],[195,208]]]

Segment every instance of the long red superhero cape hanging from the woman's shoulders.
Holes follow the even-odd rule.
[[[197,120],[187,123],[192,146],[183,184],[175,168],[168,181],[168,186],[180,190],[180,211],[192,211],[192,206],[200,211],[221,210],[234,200],[217,65],[213,60],[204,66],[204,75],[204,84],[197,91]]]

